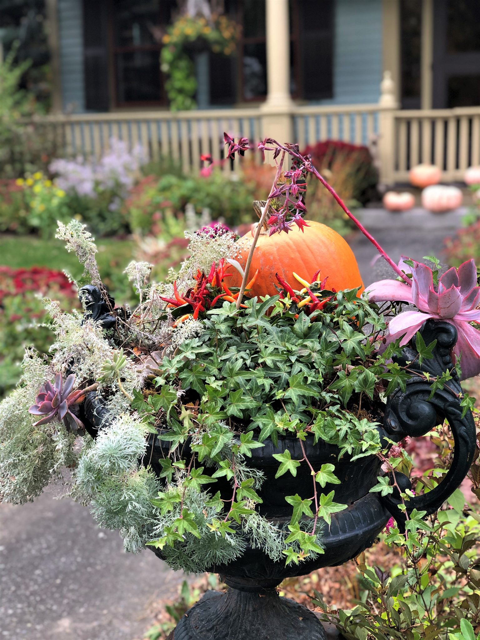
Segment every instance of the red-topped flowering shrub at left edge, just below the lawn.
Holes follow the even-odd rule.
[[[0,396],[19,380],[25,346],[47,353],[53,342],[41,296],[59,300],[65,310],[78,306],[76,289],[61,271],[0,266]]]

